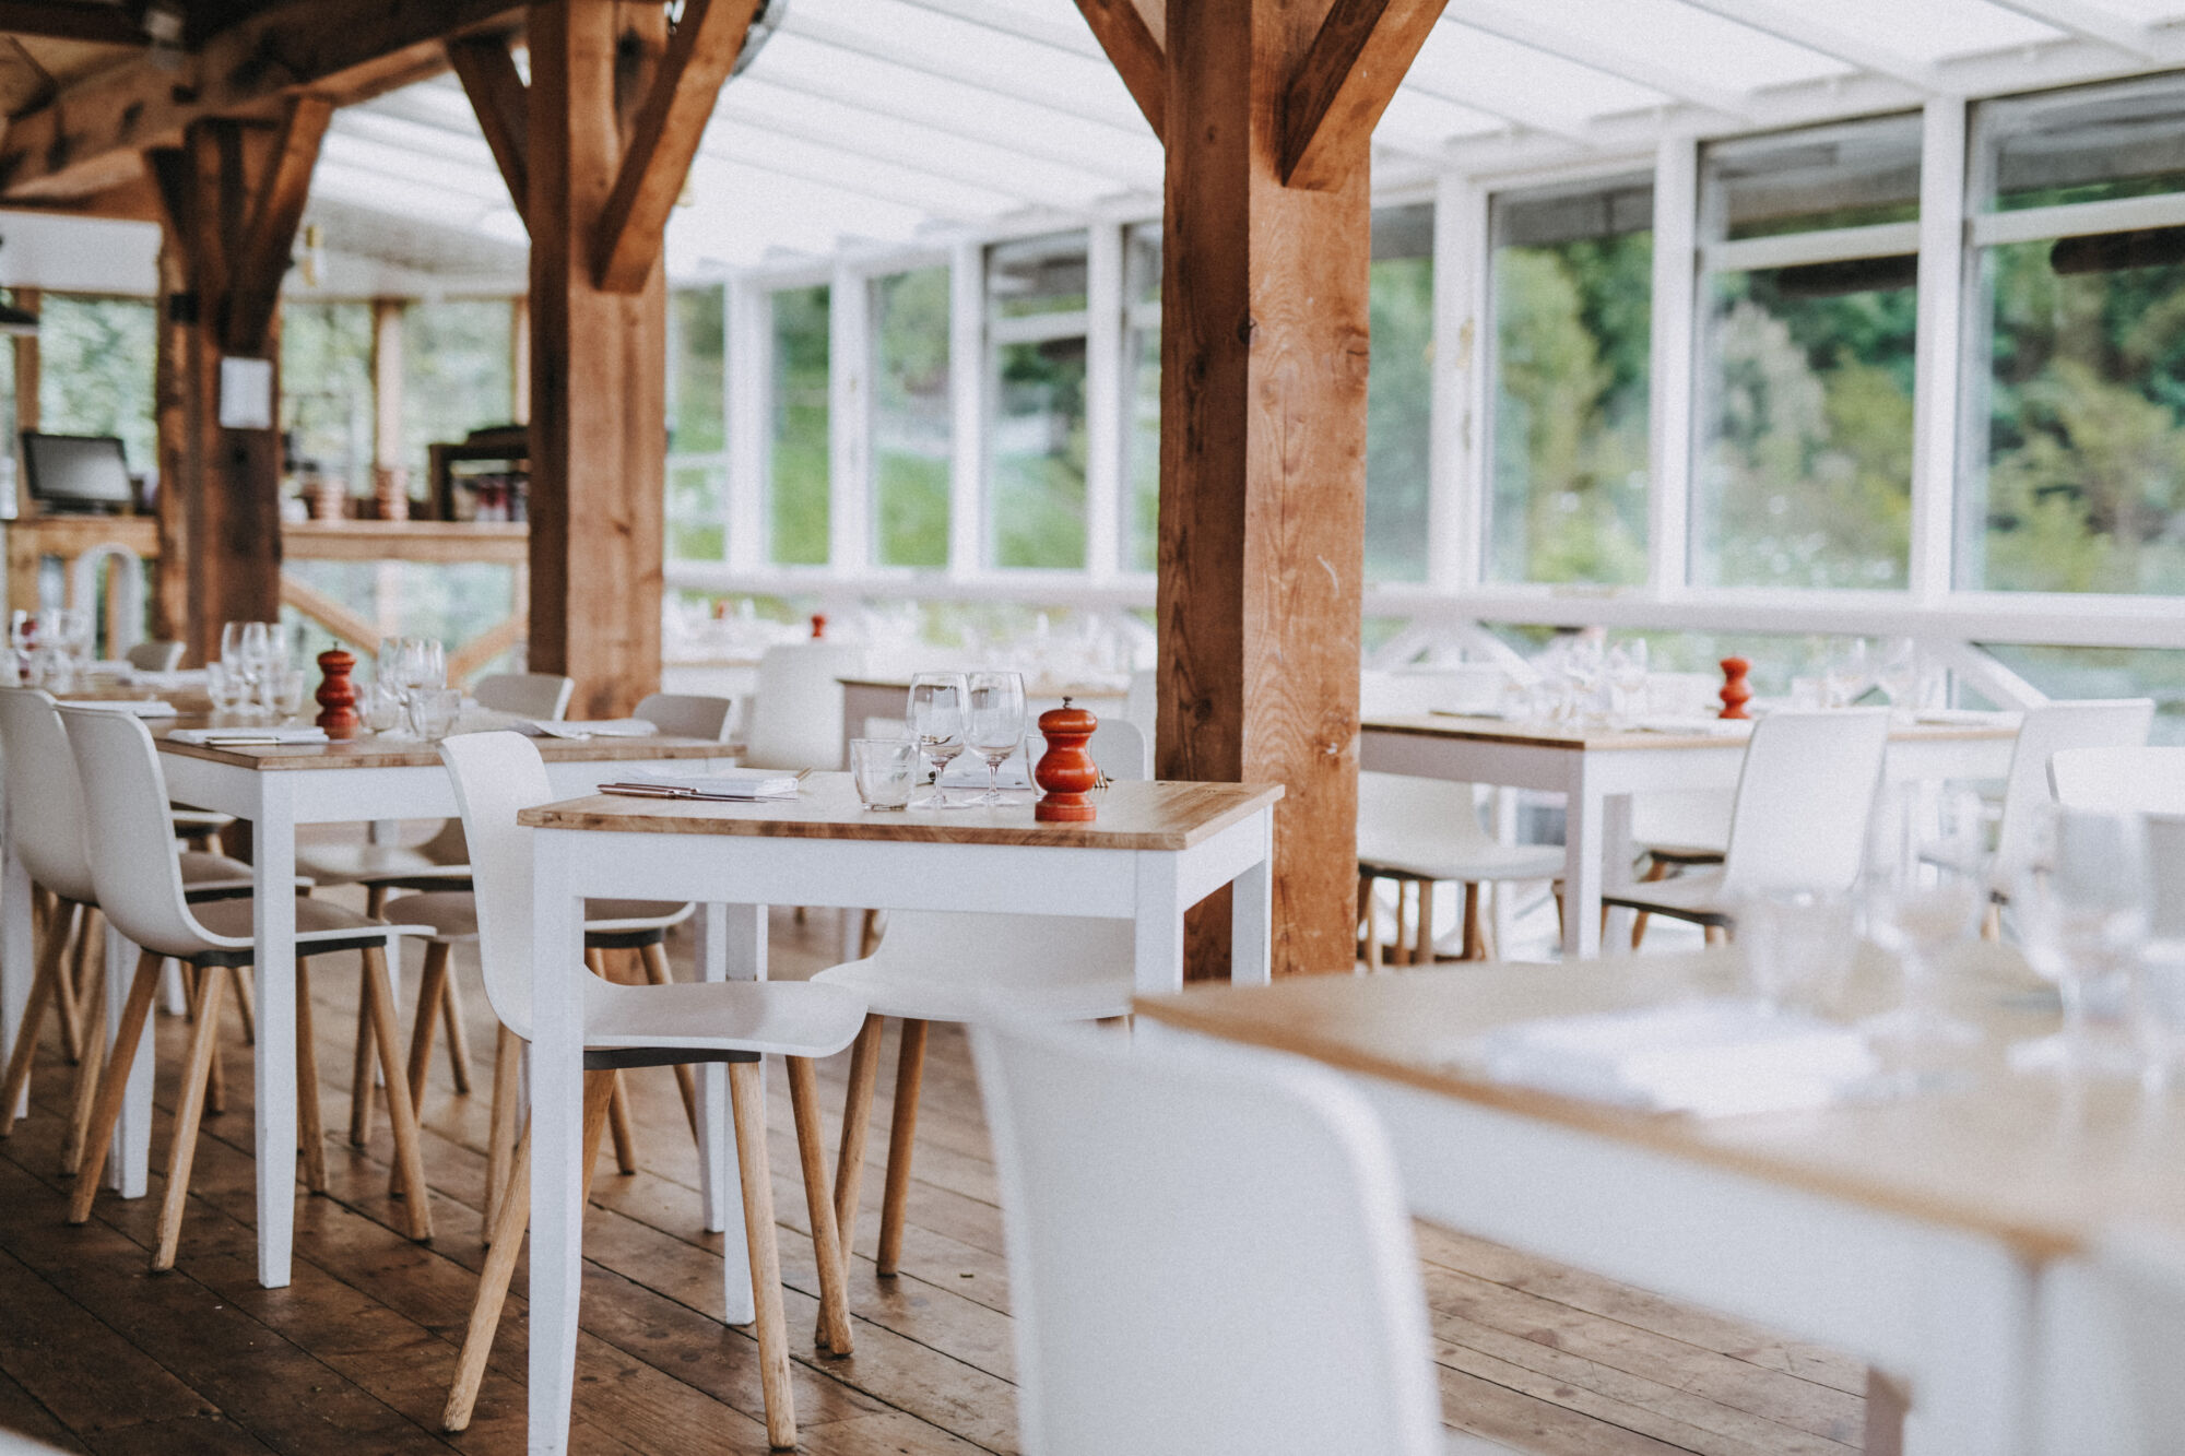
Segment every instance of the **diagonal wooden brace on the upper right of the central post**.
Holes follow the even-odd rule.
[[[1335,0],[1283,94],[1283,184],[1342,184],[1446,0]]]

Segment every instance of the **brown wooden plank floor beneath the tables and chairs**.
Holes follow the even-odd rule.
[[[804,927],[776,914],[773,973],[808,975],[830,960],[837,934],[828,914]],[[299,1205],[286,1290],[256,1283],[249,1060],[238,1028],[229,1106],[208,1119],[170,1275],[144,1268],[151,1198],[125,1205],[107,1194],[87,1226],[61,1222],[55,1170],[68,1069],[44,1056],[33,1115],[0,1141],[0,1430],[90,1452],[520,1452],[520,1296],[509,1301],[474,1425],[439,1432],[483,1257],[476,1209],[494,1045],[476,966],[459,962],[459,973],[479,1091],[454,1097],[446,1060],[435,1065],[430,1246],[395,1233],[385,1119],[369,1148],[345,1141],[356,977],[341,958],[315,977],[334,1187]],[[157,1036],[164,1115],[181,1028],[162,1017]],[[872,1270],[891,1067],[889,1047],[850,1270],[857,1353],[848,1360],[813,1353],[817,1285],[778,1069],[769,1097],[789,1325],[804,1336],[791,1345],[804,1449],[1014,1452],[994,1170],[953,1028],[935,1030],[926,1065],[905,1270],[896,1279]],[[572,1445],[765,1452],[756,1347],[747,1329],[721,1323],[719,1237],[697,1233],[697,1161],[673,1082],[664,1069],[636,1076],[642,1172],[614,1176],[603,1165],[586,1226]],[[824,1076],[839,1111],[841,1058]],[[835,1130],[830,1117],[828,1139]],[[164,1122],[155,1137],[164,1150]],[[1453,1428],[1567,1456],[1857,1449],[1864,1371],[1846,1355],[1436,1229],[1420,1229],[1420,1255]]]

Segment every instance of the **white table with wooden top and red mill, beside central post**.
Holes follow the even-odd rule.
[[[1141,993],[1184,984],[1184,912],[1230,896],[1232,984],[1265,984],[1278,785],[1114,783],[1090,824],[999,809],[867,813],[848,774],[752,805],[590,796],[518,815],[533,829],[531,1434],[566,1452],[581,1288],[583,896],[730,899],[725,973],[765,977],[767,905],[1132,920]],[[706,1156],[730,1170],[719,1119]],[[741,1220],[741,1211],[732,1211]],[[741,1229],[741,1222],[736,1224]],[[749,1318],[745,1244],[723,1240],[730,1323]],[[741,1296],[739,1296],[741,1290]]]

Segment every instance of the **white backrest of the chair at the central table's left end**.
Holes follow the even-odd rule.
[[[439,743],[470,842],[485,999],[531,1041],[531,831],[516,813],[553,800],[546,763],[520,732],[461,732]]]

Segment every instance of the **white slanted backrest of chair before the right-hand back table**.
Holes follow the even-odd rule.
[[[1888,745],[1888,708],[1779,711],[1752,724],[1724,890],[1851,890]]]

